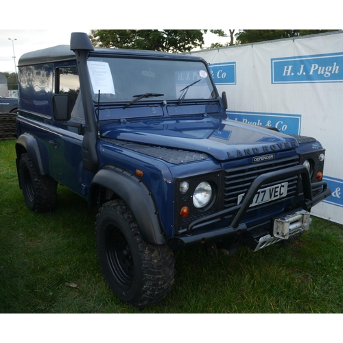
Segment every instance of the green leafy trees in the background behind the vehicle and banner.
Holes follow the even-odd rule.
[[[226,33],[225,31],[228,31]],[[194,49],[214,49],[339,31],[336,29],[92,29],[88,34],[95,47],[119,49],[143,49],[181,53]],[[204,46],[204,35],[227,38],[226,43],[212,43]],[[18,89],[16,73],[1,73],[8,80],[8,89]]]

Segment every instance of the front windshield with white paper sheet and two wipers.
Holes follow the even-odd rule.
[[[211,76],[200,61],[90,57],[88,71],[95,102],[99,91],[100,102],[126,102],[126,106],[147,100],[215,98]]]

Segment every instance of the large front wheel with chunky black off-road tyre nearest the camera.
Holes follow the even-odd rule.
[[[165,298],[175,274],[170,248],[145,243],[130,209],[121,200],[104,204],[95,226],[100,265],[116,296],[139,308]]]

